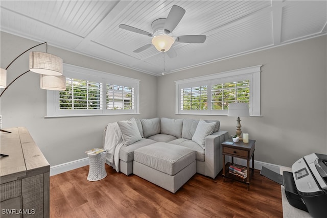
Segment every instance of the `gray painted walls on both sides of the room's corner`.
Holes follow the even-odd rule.
[[[1,67],[38,43],[1,32]],[[141,114],[136,118],[219,119],[221,129],[230,135],[236,130],[235,117],[175,115],[175,81],[262,64],[262,117],[242,118],[242,131],[256,140],[255,160],[291,166],[307,154],[327,153],[326,49],[326,36],[322,36],[160,77],[52,46],[48,52],[68,64],[140,79]],[[28,54],[17,59],[8,69],[8,81],[26,71],[28,62]],[[28,128],[51,166],[86,157],[84,151],[101,146],[107,123],[133,116],[44,118],[46,91],[39,88],[39,75],[33,72],[5,92],[0,114],[4,128]]]

